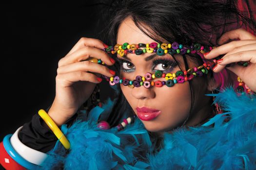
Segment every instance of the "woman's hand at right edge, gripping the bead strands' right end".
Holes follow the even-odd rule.
[[[233,39],[239,40],[224,44]],[[204,56],[206,59],[212,59],[225,54],[221,59],[217,60],[218,64],[214,68],[214,72],[221,71],[231,63],[249,61],[250,64],[247,67],[234,64],[226,68],[239,76],[252,91],[256,92],[256,36],[244,29],[232,30],[223,34],[218,44],[221,46],[214,48]]]

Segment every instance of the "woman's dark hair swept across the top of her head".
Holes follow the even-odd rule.
[[[248,1],[244,3],[249,4]],[[256,28],[255,21],[237,9],[236,0],[112,0],[105,4],[108,12],[104,11],[104,15],[110,18],[110,21],[102,33],[108,33],[105,42],[111,45],[117,43],[118,27],[126,17],[131,17],[144,34],[159,43],[176,41],[180,44],[191,44],[197,42],[216,46],[218,38],[223,33],[240,28],[242,24],[254,31]],[[248,7],[251,13],[250,6]],[[198,54],[183,55],[186,70],[189,68],[186,56],[193,58],[198,64],[203,64]],[[117,70],[119,72],[118,65]],[[209,74],[213,76],[211,71]],[[189,84],[192,94],[192,110],[194,93],[190,81]],[[111,126],[116,126],[125,110],[131,109],[122,93],[119,93],[117,98],[115,109],[107,119]]]

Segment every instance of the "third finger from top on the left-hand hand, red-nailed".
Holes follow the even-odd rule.
[[[110,69],[107,68],[106,66],[102,66],[88,60],[72,63],[66,66],[59,67],[57,69],[58,74],[64,74],[67,72],[75,72],[75,71],[96,72],[96,73],[103,74],[107,77],[112,77],[115,75],[115,71],[113,70],[110,71]]]

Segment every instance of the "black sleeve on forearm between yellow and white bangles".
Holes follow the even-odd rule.
[[[77,116],[78,114],[76,113],[64,124],[70,126],[76,120]],[[60,128],[61,127],[59,127],[59,129]],[[58,138],[38,114],[35,114],[31,121],[23,125],[18,136],[24,145],[43,153],[47,153],[54,148],[58,140]]]

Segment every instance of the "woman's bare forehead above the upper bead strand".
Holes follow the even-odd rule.
[[[117,35],[118,44],[121,45],[125,42],[129,44],[147,44],[155,41],[140,31],[131,17],[127,17],[121,22]]]

